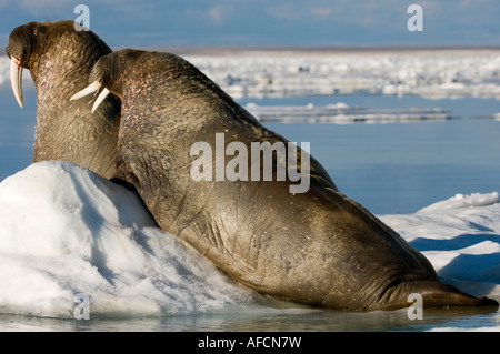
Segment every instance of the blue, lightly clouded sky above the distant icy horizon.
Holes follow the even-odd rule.
[[[499,0],[0,0],[0,48],[20,24],[77,20],[78,4],[112,48],[500,47]]]

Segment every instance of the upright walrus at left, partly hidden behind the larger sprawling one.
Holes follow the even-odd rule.
[[[22,108],[22,69],[37,89],[33,162],[61,160],[101,176],[114,174],[120,102],[109,95],[96,112],[91,99],[70,101],[87,87],[96,61],[111,49],[73,21],[29,22],[16,28],[7,44],[14,97]]]

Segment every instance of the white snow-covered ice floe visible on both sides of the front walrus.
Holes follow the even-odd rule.
[[[497,192],[457,194],[379,218],[444,281],[500,301],[499,201]],[[261,301],[156,227],[133,193],[67,162],[34,163],[0,183],[0,267],[1,313],[72,317],[79,294],[90,296],[93,317],[258,309]]]

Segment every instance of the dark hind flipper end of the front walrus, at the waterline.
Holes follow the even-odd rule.
[[[408,307],[414,300],[409,299],[410,294],[422,296],[423,307],[454,307],[454,306],[499,306],[493,299],[474,297],[462,293],[457,287],[433,281],[406,282],[388,290],[382,296],[382,310],[396,310]]]

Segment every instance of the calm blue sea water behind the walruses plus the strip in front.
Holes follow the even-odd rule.
[[[34,133],[33,89],[24,88],[20,109],[9,87],[0,88],[0,180],[31,163]],[[457,193],[500,191],[500,112],[493,99],[426,100],[418,97],[296,97],[242,99],[279,105],[441,108],[454,119],[384,124],[266,123],[294,142],[310,142],[340,191],[376,214],[412,213]],[[424,331],[434,327],[498,326],[496,314],[429,311],[409,320],[406,310],[374,313],[282,311],[192,314],[90,321],[0,315],[3,331]]]

